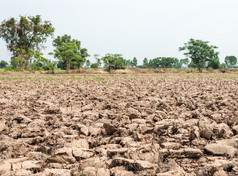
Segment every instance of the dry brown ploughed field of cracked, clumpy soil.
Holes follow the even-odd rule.
[[[0,175],[238,175],[238,79],[63,77],[0,81]]]

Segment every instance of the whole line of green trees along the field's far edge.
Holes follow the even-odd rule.
[[[43,21],[40,15],[20,16],[20,19],[11,17],[4,20],[0,26],[0,38],[5,40],[8,50],[11,52],[10,64],[0,61],[0,68],[50,70],[65,69],[67,73],[71,69],[105,67],[112,69],[125,68],[197,68],[202,72],[203,68],[232,68],[237,64],[235,56],[227,56],[225,63],[220,63],[217,46],[210,45],[208,41],[190,39],[179,51],[184,52],[186,58],[157,57],[144,58],[143,65],[138,66],[137,58],[125,59],[121,54],[106,54],[100,57],[94,55],[95,62],[87,59],[88,50],[81,46],[81,41],[72,39],[70,35],[57,36],[53,39],[54,50],[50,52],[57,61],[53,62],[43,56],[41,52],[45,48],[47,38],[52,37],[55,28],[49,21]],[[103,65],[102,65],[103,64]]]

